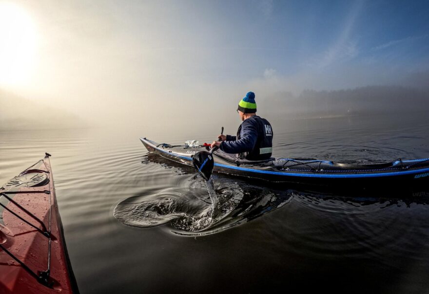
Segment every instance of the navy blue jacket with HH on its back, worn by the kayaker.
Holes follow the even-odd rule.
[[[260,122],[264,121],[266,123],[269,122],[265,119],[259,118],[258,116],[252,116],[250,118],[245,119],[242,123],[241,123],[241,130],[239,128],[239,134],[238,135],[238,139],[237,136],[231,136],[231,135],[227,135],[226,136],[226,141],[223,141],[220,144],[220,150],[222,150],[223,152],[226,153],[232,153],[232,154],[243,154],[243,153],[252,153],[254,151],[254,149],[257,149],[259,151],[259,148],[261,146],[255,146],[256,142],[258,142],[258,145],[260,145],[261,143],[263,144],[263,142],[261,142],[261,138],[265,138],[265,131],[263,128],[261,128],[260,126]],[[271,132],[271,126],[270,126],[270,132]],[[262,147],[271,147],[272,146],[272,133],[270,135],[271,137],[269,137],[269,143],[267,145],[267,143],[265,143],[264,146]],[[259,140],[258,140],[259,137]],[[265,140],[266,141],[266,140]],[[267,156],[271,156],[271,152],[270,154]],[[262,159],[263,157],[267,157],[267,156],[262,156],[261,158],[252,158],[252,159]],[[257,156],[259,157],[259,156]]]

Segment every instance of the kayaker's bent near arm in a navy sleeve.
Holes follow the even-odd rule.
[[[252,122],[250,122],[250,120],[245,120],[241,124],[240,137],[241,138],[237,141],[223,141],[219,146],[220,150],[232,154],[252,151],[254,149],[254,145],[258,137],[258,132],[256,126]]]

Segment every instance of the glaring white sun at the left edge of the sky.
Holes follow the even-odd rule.
[[[21,85],[31,76],[36,35],[32,19],[22,8],[0,2],[0,87]]]

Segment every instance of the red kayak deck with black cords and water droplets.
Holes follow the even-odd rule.
[[[49,155],[0,193],[0,293],[76,293]]]

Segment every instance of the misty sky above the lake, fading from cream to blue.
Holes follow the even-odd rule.
[[[25,78],[0,79],[0,129],[217,132],[248,91],[266,118],[428,109],[427,2],[10,3],[36,45]],[[35,124],[23,104],[56,115]]]

